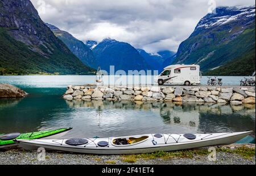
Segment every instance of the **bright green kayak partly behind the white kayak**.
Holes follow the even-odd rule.
[[[13,141],[14,139],[58,139],[67,134],[71,129],[72,128],[60,128],[57,130],[28,132],[24,134],[19,134],[18,132],[12,134],[0,134],[0,149],[17,146]]]

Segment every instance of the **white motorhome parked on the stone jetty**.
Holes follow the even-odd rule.
[[[175,85],[201,84],[201,72],[199,65],[171,65],[156,76],[155,83]]]

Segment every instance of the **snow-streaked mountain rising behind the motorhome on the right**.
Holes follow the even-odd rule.
[[[246,59],[251,50],[255,50],[255,6],[218,7],[180,44],[174,63],[196,63],[204,72],[221,66],[232,69],[230,62]],[[249,60],[255,62],[255,55]]]

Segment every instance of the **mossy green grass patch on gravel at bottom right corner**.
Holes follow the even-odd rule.
[[[247,148],[247,147],[240,147],[240,148],[235,148],[235,149],[218,148],[218,149],[216,149],[216,151],[240,154],[243,158],[246,158],[246,159],[250,159],[251,157],[255,156],[255,148]]]

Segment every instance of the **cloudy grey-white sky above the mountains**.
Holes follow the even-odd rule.
[[[254,0],[31,0],[44,22],[79,40],[106,37],[155,53],[176,51],[214,6],[249,6]]]

